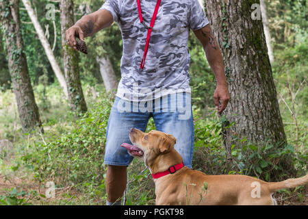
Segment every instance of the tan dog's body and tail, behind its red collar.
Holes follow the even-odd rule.
[[[276,205],[272,192],[307,183],[307,177],[266,183],[244,175],[205,175],[184,167],[154,181],[157,205]]]

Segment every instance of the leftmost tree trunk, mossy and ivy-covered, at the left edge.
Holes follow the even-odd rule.
[[[5,34],[12,86],[23,131],[31,131],[35,127],[40,127],[43,131],[24,53],[18,3],[19,0],[0,1],[0,20]]]

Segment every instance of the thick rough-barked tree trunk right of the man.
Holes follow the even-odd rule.
[[[253,3],[205,0],[229,83],[231,100],[224,112],[234,123],[226,133],[229,148],[235,136],[254,144],[286,143],[263,24],[251,18]]]

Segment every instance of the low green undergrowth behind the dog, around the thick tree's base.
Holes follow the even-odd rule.
[[[296,166],[297,174],[307,170],[307,153],[295,151],[294,146],[277,146],[261,142],[251,144],[243,139],[233,139],[232,160],[228,161],[221,138],[223,118],[212,114],[205,120],[197,118],[195,122],[194,165],[208,175],[242,174],[257,176],[266,181],[279,181],[296,175],[295,170],[287,170],[288,163]],[[295,176],[294,176],[295,177]]]

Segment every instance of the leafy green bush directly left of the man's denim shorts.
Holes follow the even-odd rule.
[[[35,151],[23,155],[39,181],[57,179],[62,184],[103,181],[103,152],[111,101],[106,98],[77,120],[74,128],[48,142],[35,142]],[[88,185],[88,184],[86,184]]]

